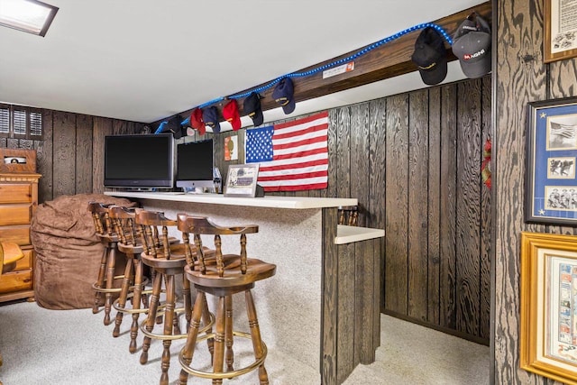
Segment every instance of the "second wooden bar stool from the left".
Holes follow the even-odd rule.
[[[134,222],[136,210],[138,209],[124,206],[112,206],[109,209],[115,233],[119,237],[116,246],[119,252],[124,252],[126,255],[126,267],[124,268],[124,279],[120,296],[112,304],[117,311],[112,335],[114,337],[120,335],[120,325],[122,325],[124,313],[132,315],[133,323],[130,328],[130,344],[128,347],[130,353],[136,352],[138,318],[142,313],[148,311],[147,295],[151,293],[151,290],[144,289],[149,280],[144,276],[142,269],[141,254],[144,249],[142,247],[141,228]],[[132,302],[132,307],[126,307],[129,299]]]

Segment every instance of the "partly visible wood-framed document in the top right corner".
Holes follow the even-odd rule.
[[[577,56],[577,5],[545,0],[544,61],[550,63]]]

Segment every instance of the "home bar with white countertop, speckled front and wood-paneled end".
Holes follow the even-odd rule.
[[[356,198],[105,194],[139,201],[172,218],[186,212],[206,215],[217,225],[259,225],[258,234],[247,236],[249,257],[277,265],[276,275],[254,289],[267,360],[273,351],[282,353],[310,366],[317,383],[326,385],[341,384],[359,363],[374,362],[384,231],[337,225],[337,208],[357,205]],[[237,242],[223,240],[224,252],[236,252]],[[203,243],[213,247],[212,238]],[[235,324],[246,325],[244,310],[234,306]],[[287,365],[283,375],[290,372]],[[285,380],[281,383],[290,383]]]

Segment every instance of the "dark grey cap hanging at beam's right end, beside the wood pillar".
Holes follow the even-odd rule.
[[[481,16],[470,14],[453,36],[453,53],[467,78],[490,72],[490,26]]]

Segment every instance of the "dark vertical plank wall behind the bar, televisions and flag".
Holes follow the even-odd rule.
[[[329,188],[286,193],[357,197],[359,225],[385,229],[381,310],[489,344],[490,199],[481,183],[489,134],[490,77],[329,111]],[[44,112],[45,140],[2,142],[39,151],[41,201],[102,192],[105,135],[140,124]],[[238,135],[239,160],[224,161]],[[245,130],[219,135],[216,166],[243,162]],[[342,289],[342,288],[341,288]]]

